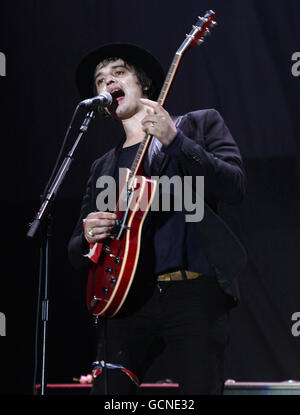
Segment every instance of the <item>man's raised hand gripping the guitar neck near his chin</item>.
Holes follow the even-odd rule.
[[[142,120],[143,131],[154,135],[164,146],[168,146],[177,135],[177,128],[170,114],[158,102],[145,98],[140,100],[148,107],[148,115]]]

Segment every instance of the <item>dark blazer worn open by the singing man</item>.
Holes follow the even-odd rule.
[[[204,218],[195,222],[203,251],[214,267],[221,287],[239,297],[236,278],[246,265],[247,256],[237,237],[217,214],[218,202],[238,203],[245,193],[242,159],[220,114],[214,109],[190,112],[180,118],[178,125],[181,151],[172,153],[168,147],[159,151],[151,164],[151,175],[162,175],[172,157],[176,174],[204,176]],[[82,233],[82,220],[96,211],[96,181],[101,175],[113,175],[118,151],[123,142],[91,167],[80,217],[69,242],[69,258],[75,268],[89,267],[83,256],[88,244]]]

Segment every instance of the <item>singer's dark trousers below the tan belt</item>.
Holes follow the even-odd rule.
[[[99,323],[99,361],[120,364],[143,381],[154,359],[168,359],[179,394],[222,394],[228,343],[229,298],[214,277],[160,282],[138,310]],[[106,324],[106,336],[104,335]],[[92,394],[134,394],[135,383],[120,369],[95,378]]]

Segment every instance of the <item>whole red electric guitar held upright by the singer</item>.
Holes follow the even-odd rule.
[[[184,53],[204,42],[216,25],[210,10],[198,17],[186,39],[177,50],[157,102],[164,105]],[[142,161],[152,136],[146,134],[131,169],[126,169],[120,183],[115,213],[116,226],[109,238],[94,248],[102,248],[97,263],[91,266],[87,283],[87,306],[94,316],[113,317],[122,307],[132,285],[141,245],[142,226],[153,200],[156,182],[145,176]],[[97,246],[98,245],[98,246]]]

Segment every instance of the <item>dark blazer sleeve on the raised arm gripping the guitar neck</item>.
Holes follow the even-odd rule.
[[[240,202],[245,193],[242,158],[223,118],[214,109],[186,117],[174,143],[163,151],[176,159],[183,175],[204,176],[208,199]]]

